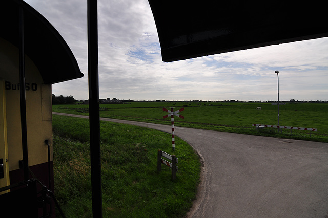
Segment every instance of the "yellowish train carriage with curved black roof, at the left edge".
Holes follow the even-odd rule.
[[[0,208],[8,217],[54,217],[51,84],[83,74],[31,6],[3,0],[0,10]]]

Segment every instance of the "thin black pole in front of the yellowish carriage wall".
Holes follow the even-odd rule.
[[[19,7],[19,84],[20,84],[20,125],[22,128],[22,150],[24,180],[29,180],[29,161],[27,150],[26,93],[25,93],[25,51],[24,51],[24,11]]]

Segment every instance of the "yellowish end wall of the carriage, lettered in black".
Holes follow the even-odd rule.
[[[23,160],[20,124],[19,55],[17,47],[0,38],[0,79],[5,80],[9,170]],[[51,67],[51,66],[49,66]],[[43,84],[35,64],[25,55],[26,116],[29,165],[48,161],[48,139],[52,160],[51,85]]]

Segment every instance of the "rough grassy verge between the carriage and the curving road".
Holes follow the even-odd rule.
[[[200,162],[176,137],[149,128],[101,122],[104,217],[183,217],[195,199]],[[55,195],[67,217],[91,217],[89,120],[53,115]],[[177,179],[157,150],[179,159]],[[59,215],[58,215],[59,217]]]

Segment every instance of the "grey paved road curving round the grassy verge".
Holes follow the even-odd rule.
[[[101,120],[171,133],[170,125]],[[183,127],[175,135],[203,163],[187,217],[328,217],[327,143]]]

